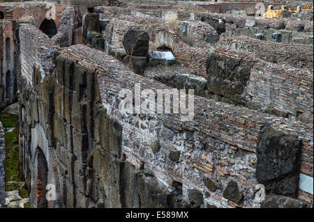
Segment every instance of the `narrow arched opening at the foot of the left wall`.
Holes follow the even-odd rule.
[[[48,182],[48,167],[45,154],[40,148],[35,152],[35,182],[36,182],[36,207],[47,208],[46,187]]]

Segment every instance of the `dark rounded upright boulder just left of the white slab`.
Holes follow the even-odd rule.
[[[149,33],[140,29],[129,29],[122,40],[126,54],[145,57],[149,51]]]

